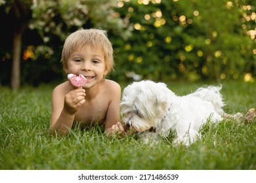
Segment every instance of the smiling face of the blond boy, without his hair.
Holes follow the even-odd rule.
[[[104,52],[100,48],[93,48],[89,44],[77,46],[68,58],[65,73],[83,75],[87,78],[85,88],[90,88],[100,82],[108,73],[104,59]]]

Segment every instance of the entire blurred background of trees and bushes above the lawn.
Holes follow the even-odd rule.
[[[58,84],[64,41],[106,29],[116,82],[256,76],[254,0],[0,0],[0,86]]]

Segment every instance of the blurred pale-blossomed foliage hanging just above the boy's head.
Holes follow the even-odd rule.
[[[116,1],[36,1],[33,4],[31,29],[39,30],[44,42],[51,42],[50,35],[56,35],[64,42],[73,31],[84,27],[101,27],[115,30],[116,34],[127,37],[125,20],[115,16]],[[43,15],[43,16],[42,16]],[[54,44],[54,42],[51,42]]]

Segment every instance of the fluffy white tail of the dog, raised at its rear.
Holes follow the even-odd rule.
[[[223,96],[220,93],[221,88],[222,86],[207,86],[205,88],[198,88],[196,92],[189,95],[200,97],[204,101],[213,103],[216,112],[222,115],[224,113],[223,107],[225,103],[223,101]]]

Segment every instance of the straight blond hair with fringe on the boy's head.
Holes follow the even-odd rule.
[[[79,29],[70,34],[63,46],[61,62],[63,67],[67,67],[68,58],[77,46],[89,44],[94,48],[101,48],[104,52],[106,70],[108,73],[114,70],[113,48],[108,40],[106,31],[101,29]]]

